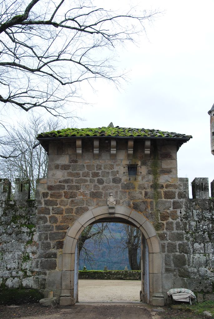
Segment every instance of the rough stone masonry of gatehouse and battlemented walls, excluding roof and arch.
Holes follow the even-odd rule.
[[[84,213],[106,206],[112,191],[116,205],[136,211],[139,225],[146,219],[159,238],[159,293],[165,297],[169,289],[182,287],[199,300],[214,299],[214,199],[208,179],[194,179],[189,199],[188,179],[177,176],[177,145],[151,140],[149,156],[145,149],[144,141],[134,141],[128,159],[125,139],[117,141],[113,155],[105,139],[98,153],[92,138],[83,140],[81,154],[75,140],[50,142],[48,177],[38,181],[36,204],[28,199],[28,181],[17,181],[10,200],[10,183],[1,180],[1,290],[37,289],[45,296],[53,290],[59,297],[68,267],[63,263],[67,232]],[[137,165],[135,175],[128,174],[129,165]],[[154,265],[155,253],[149,257]],[[156,272],[154,266],[151,278]]]

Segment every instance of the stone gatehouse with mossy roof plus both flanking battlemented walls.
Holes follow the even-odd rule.
[[[10,204],[2,180],[2,289],[37,289],[45,296],[52,290],[61,305],[74,304],[78,238],[103,221],[141,230],[142,301],[163,305],[166,292],[180,287],[198,300],[213,299],[214,199],[207,178],[194,179],[189,199],[188,179],[177,174],[177,151],[190,138],[119,127],[40,134],[49,166],[37,184],[36,208],[27,200],[27,181],[17,182]],[[113,204],[107,204],[110,192]]]

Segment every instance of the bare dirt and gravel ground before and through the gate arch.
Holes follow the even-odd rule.
[[[119,281],[119,282],[118,282]],[[79,280],[79,303],[46,308],[39,303],[0,306],[0,319],[201,319],[202,315],[139,301],[140,281]]]

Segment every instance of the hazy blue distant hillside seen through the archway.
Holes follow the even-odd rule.
[[[110,223],[109,231],[105,231],[102,245],[89,239],[85,241],[84,247],[87,249],[89,256],[87,257],[82,250],[79,259],[79,269],[82,270],[85,265],[87,270],[103,270],[107,266],[108,270],[124,270],[125,266],[130,270],[128,251],[124,249],[122,244],[125,232],[123,224]],[[114,238],[112,238],[112,236]],[[89,260],[87,260],[89,259]]]

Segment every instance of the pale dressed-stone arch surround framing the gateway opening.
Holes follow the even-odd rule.
[[[148,303],[154,306],[163,306],[161,250],[155,228],[142,214],[122,205],[115,205],[114,214],[109,213],[108,205],[93,208],[80,216],[68,230],[63,246],[60,305],[72,305],[78,299],[77,242],[80,234],[91,223],[99,222],[100,219],[105,218],[111,222],[114,222],[115,219],[121,219],[141,230],[148,248]]]

